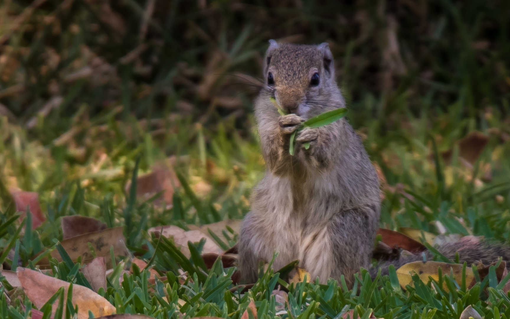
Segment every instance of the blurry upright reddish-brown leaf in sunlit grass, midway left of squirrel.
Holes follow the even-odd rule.
[[[126,184],[126,191],[129,192],[131,182]],[[152,173],[139,176],[136,181],[136,197],[149,199],[156,193],[163,191],[163,194],[154,201],[155,205],[161,205],[163,202],[171,207],[173,203],[174,187],[181,187],[181,183],[175,172],[166,166],[157,165],[152,169]]]

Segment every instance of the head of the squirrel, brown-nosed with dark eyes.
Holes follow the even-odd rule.
[[[266,91],[289,113],[305,116],[343,105],[327,43],[278,44],[269,40],[264,77]]]

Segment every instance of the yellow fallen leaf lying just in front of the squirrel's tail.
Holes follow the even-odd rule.
[[[405,289],[405,285],[411,285],[413,287],[412,273],[416,273],[424,283],[428,283],[428,277],[432,277],[436,281],[439,281],[438,268],[441,267],[443,275],[449,275],[453,272],[453,278],[457,282],[461,282],[462,279],[462,267],[461,264],[452,264],[439,261],[415,261],[406,263],[397,269],[397,277],[400,286]],[[466,285],[472,287],[475,284],[475,277],[470,268],[466,268]],[[447,289],[446,283],[444,288]]]

